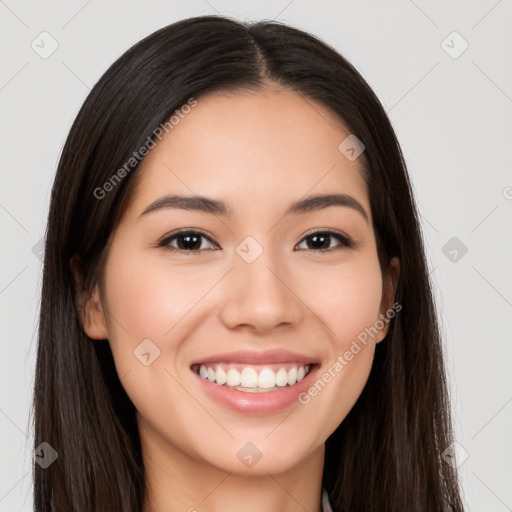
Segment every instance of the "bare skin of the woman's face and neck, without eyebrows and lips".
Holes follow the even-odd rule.
[[[318,359],[321,375],[391,307],[384,291],[394,294],[398,262],[383,280],[362,159],[338,150],[348,134],[326,108],[286,89],[215,93],[198,98],[137,171],[83,323],[91,338],[108,339],[137,409],[145,512],[321,510],[325,440],[359,397],[388,324],[308,404],[274,414],[224,408],[190,364],[237,349],[285,348]],[[141,216],[170,193],[221,199],[232,217],[178,209]],[[369,221],[347,206],[284,215],[317,193],[352,196]],[[213,241],[200,238],[199,254],[180,251],[179,238],[158,247],[182,228]],[[305,238],[315,228],[356,245],[333,236],[320,253]],[[263,248],[250,264],[236,252],[247,236]],[[145,366],[133,351],[148,338],[160,355]],[[237,457],[247,442],[262,453],[252,468]]]

